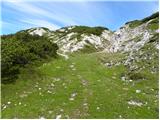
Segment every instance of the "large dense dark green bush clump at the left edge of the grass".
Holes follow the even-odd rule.
[[[1,37],[2,83],[13,82],[21,67],[35,60],[57,56],[58,46],[46,37],[19,32]]]

